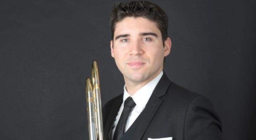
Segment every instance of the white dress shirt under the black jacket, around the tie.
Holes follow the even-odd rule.
[[[127,119],[125,132],[128,130],[128,128],[133,124],[133,122],[136,120],[136,118],[140,115],[140,113],[145,108],[151,94],[153,93],[153,90],[155,89],[157,83],[159,82],[159,80],[161,79],[162,76],[163,76],[163,71],[161,73],[159,73],[159,75],[156,76],[156,78],[154,78],[149,83],[147,83],[146,85],[141,87],[141,89],[139,89],[137,92],[135,92],[133,94],[133,96],[131,96],[127,92],[126,86],[124,85],[124,87],[123,87],[123,90],[124,90],[124,92],[123,92],[123,103],[128,97],[132,97],[135,104],[136,104],[135,107],[133,108],[133,110],[131,111],[128,119]],[[113,139],[116,125],[117,125],[117,123],[120,119],[121,113],[123,111],[123,103],[121,104],[121,107],[118,111],[118,114],[117,114],[116,119],[114,121],[114,124],[112,126],[112,132],[111,132],[111,135],[110,135],[111,139]]]

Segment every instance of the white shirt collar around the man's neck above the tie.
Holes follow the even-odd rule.
[[[136,91],[133,96],[131,96],[127,90],[126,90],[126,86],[124,85],[123,87],[123,102],[128,98],[128,97],[132,97],[135,104],[136,104],[136,109],[137,111],[142,112],[142,110],[145,108],[146,104],[148,103],[148,100],[151,96],[151,94],[153,93],[157,83],[159,82],[159,80],[161,79],[161,77],[163,76],[163,71],[159,73],[158,76],[156,76],[153,80],[151,80],[149,83],[147,83],[146,85],[144,85],[143,87],[141,87],[141,89],[139,89],[138,91]]]

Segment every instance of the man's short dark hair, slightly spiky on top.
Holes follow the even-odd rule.
[[[116,4],[110,15],[110,31],[112,40],[114,39],[115,25],[126,17],[142,17],[157,24],[161,31],[163,44],[168,30],[168,16],[162,8],[149,1],[130,1],[127,3]]]

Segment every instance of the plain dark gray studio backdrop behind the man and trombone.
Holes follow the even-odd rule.
[[[212,101],[224,139],[255,139],[256,2],[153,2],[169,16],[169,78]],[[93,59],[102,104],[123,91],[109,49],[114,3],[0,2],[1,140],[88,139],[84,83]]]

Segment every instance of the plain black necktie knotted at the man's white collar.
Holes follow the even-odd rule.
[[[135,106],[135,102],[133,101],[132,97],[128,97],[123,104],[123,112],[120,116],[120,119],[116,125],[115,133],[113,136],[113,140],[119,140],[122,135],[124,134],[124,129],[126,126],[126,122],[130,112],[132,111],[133,107]]]

